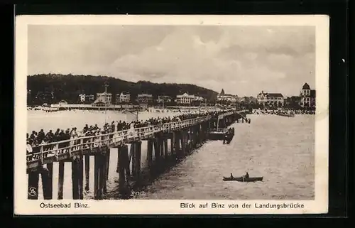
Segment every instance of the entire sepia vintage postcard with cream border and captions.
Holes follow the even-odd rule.
[[[16,16],[15,36],[15,215],[327,213],[328,16]]]

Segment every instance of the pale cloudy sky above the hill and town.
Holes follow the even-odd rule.
[[[190,83],[239,97],[315,88],[314,26],[28,26],[28,75]]]

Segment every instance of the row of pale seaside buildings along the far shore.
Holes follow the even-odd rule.
[[[94,94],[80,94],[77,104],[90,104],[94,107],[106,107],[114,104],[160,104],[165,106],[178,105],[178,106],[203,106],[212,104],[222,105],[236,105],[236,104],[251,104],[253,108],[268,108],[268,107],[293,107],[293,108],[315,108],[315,89],[311,89],[310,85],[305,83],[300,89],[298,96],[284,97],[281,93],[264,92],[261,91],[255,97],[238,97],[234,94],[226,94],[224,89],[217,95],[214,102],[207,100],[206,97],[201,97],[195,94],[178,94],[175,97],[159,94],[137,94],[131,96],[129,92],[120,92],[113,94],[109,92]],[[61,101],[60,104],[67,104]]]

